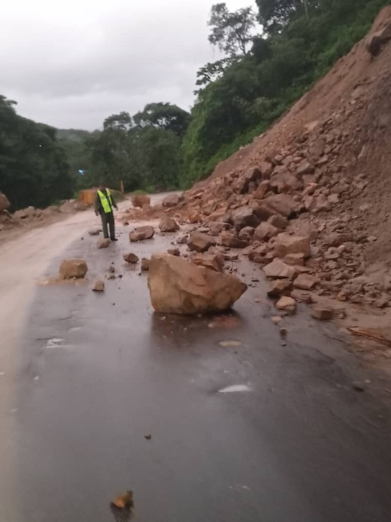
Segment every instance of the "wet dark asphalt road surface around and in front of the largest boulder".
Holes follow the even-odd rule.
[[[389,522],[386,377],[306,312],[284,319],[283,340],[262,286],[224,316],[154,314],[122,254],[162,251],[169,235],[130,246],[122,230],[100,251],[84,235],[46,274],[83,256],[87,281],[36,289],[3,376],[0,521],[109,522],[132,489],[140,522]],[[112,262],[123,277],[92,292]],[[251,391],[217,391],[236,384]]]

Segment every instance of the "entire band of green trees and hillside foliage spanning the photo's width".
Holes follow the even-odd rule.
[[[113,188],[123,181],[126,191],[187,187],[283,114],[386,4],[256,0],[258,13],[215,4],[209,41],[224,56],[200,68],[191,114],[150,103],[133,116],[107,117],[103,131],[56,134],[0,97],[0,190],[17,208],[50,204],[102,177]]]

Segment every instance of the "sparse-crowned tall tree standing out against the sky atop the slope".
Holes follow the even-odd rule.
[[[225,3],[212,6],[209,41],[230,56],[246,55],[256,16],[251,7],[230,13]]]

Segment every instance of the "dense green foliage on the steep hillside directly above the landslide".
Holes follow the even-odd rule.
[[[214,28],[210,40],[224,49],[229,59],[207,64],[199,71],[197,84],[202,88],[182,145],[182,185],[209,174],[218,161],[263,132],[364,37],[380,8],[388,3],[257,0],[264,32],[253,35],[250,52],[236,48],[236,56],[224,46],[224,34],[229,44],[224,24],[230,18],[225,15],[223,27]],[[217,8],[221,12],[222,4]],[[215,10],[216,6],[211,22],[220,23]],[[251,26],[251,9],[237,13],[248,16]],[[247,30],[248,25],[243,27]]]

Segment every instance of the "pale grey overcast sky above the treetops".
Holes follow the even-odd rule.
[[[60,128],[100,128],[149,102],[189,109],[197,70],[219,57],[207,41],[216,2],[4,0],[0,94],[22,116]]]

